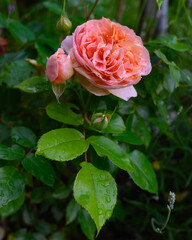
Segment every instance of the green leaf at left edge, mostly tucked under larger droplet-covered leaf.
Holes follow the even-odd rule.
[[[0,215],[2,218],[6,218],[9,215],[17,212],[23,205],[25,200],[25,193],[23,192],[17,199],[9,202],[6,206],[0,208]]]

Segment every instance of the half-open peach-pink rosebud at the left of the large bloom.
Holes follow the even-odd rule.
[[[59,48],[47,60],[46,75],[53,84],[66,81],[74,74],[70,55],[66,55],[63,49]]]

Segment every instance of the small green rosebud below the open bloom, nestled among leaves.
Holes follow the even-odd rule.
[[[92,125],[98,130],[105,129],[108,126],[108,122],[107,116],[103,113],[95,113],[91,118]]]

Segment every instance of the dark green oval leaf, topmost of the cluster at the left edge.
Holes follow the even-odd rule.
[[[11,132],[12,140],[23,147],[33,147],[36,143],[36,136],[31,129],[26,127],[14,127]]]

